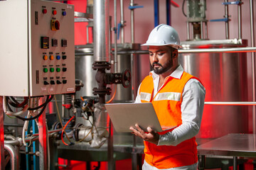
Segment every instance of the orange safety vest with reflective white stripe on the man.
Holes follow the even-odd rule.
[[[142,103],[151,102],[159,118],[161,126],[179,126],[181,120],[182,92],[189,79],[197,79],[183,72],[181,79],[167,77],[164,85],[154,94],[154,83],[151,76],[147,76],[139,89]],[[158,169],[169,169],[188,166],[198,162],[196,137],[185,140],[176,146],[161,145],[144,141],[145,161]]]

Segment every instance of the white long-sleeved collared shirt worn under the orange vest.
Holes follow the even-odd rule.
[[[158,92],[157,89],[159,85],[159,75],[151,72],[154,81],[154,96]],[[183,68],[181,65],[172,72],[169,77],[174,77],[176,79],[181,79],[183,74]],[[140,86],[139,86],[140,88]],[[176,146],[184,140],[188,140],[194,137],[200,129],[204,98],[206,95],[206,89],[197,79],[190,79],[186,83],[183,89],[182,97],[183,101],[181,103],[181,120],[182,124],[171,132],[167,132],[164,135],[160,135],[158,145],[173,145]],[[135,103],[141,103],[141,98],[139,96],[139,89],[137,92],[137,97]]]

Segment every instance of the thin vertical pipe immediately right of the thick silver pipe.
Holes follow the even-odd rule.
[[[114,0],[114,72],[117,72],[117,0]]]

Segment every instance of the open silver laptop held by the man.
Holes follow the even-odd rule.
[[[111,103],[105,107],[117,132],[132,132],[129,128],[135,128],[136,123],[145,132],[147,127],[162,131],[152,103]]]

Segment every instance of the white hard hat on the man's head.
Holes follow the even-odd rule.
[[[177,31],[171,26],[168,26],[165,24],[156,26],[156,28],[151,30],[151,33],[149,34],[149,39],[143,45],[148,45],[148,46],[169,45],[176,49],[181,47]]]

